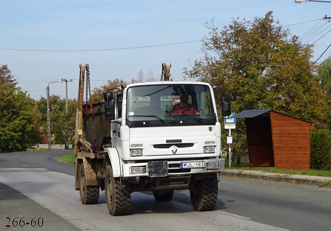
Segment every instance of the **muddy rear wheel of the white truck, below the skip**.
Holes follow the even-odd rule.
[[[99,201],[99,186],[86,186],[84,165],[80,164],[79,171],[79,195],[84,205],[95,205]]]

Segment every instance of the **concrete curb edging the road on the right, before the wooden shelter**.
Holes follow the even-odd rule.
[[[328,181],[325,180],[319,180],[319,179],[306,179],[306,178],[299,178],[299,177],[293,177],[291,175],[286,174],[276,174],[275,173],[245,173],[238,170],[237,172],[234,171],[223,171],[220,172],[220,176],[224,177],[237,177],[237,178],[248,178],[248,179],[262,179],[262,180],[268,180],[268,181],[276,181],[276,182],[285,182],[285,183],[291,183],[291,184],[305,184],[305,185],[314,185],[314,186],[320,186],[323,183],[326,183]]]

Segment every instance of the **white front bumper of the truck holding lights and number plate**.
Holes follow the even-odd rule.
[[[199,160],[200,161],[200,160]],[[149,169],[148,162],[144,163],[128,163],[122,165],[123,177],[135,177],[135,176],[180,176],[180,175],[191,175],[196,173],[208,173],[208,172],[222,172],[224,171],[224,159],[213,159],[213,160],[201,160],[204,162],[204,167],[197,168],[180,168],[182,161],[165,161],[166,164],[162,166],[160,170],[161,175],[151,174],[152,169]],[[185,161],[188,162],[188,161]],[[197,162],[197,161],[189,161]],[[151,162],[153,163],[153,162]],[[152,165],[152,164],[151,164]],[[139,167],[139,170],[133,170],[132,167]],[[137,169],[137,168],[135,168]],[[155,169],[153,169],[155,172]]]

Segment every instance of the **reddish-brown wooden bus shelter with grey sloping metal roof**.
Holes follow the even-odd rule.
[[[249,110],[245,118],[251,167],[310,169],[311,122],[273,110]]]

